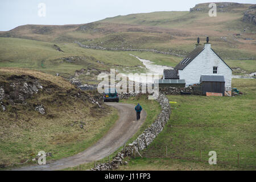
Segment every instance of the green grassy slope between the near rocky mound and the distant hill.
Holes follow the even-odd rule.
[[[0,38],[0,67],[36,69],[41,72],[69,78],[76,70],[84,68],[90,75],[82,81],[97,81],[102,71],[115,68],[121,71],[139,70],[142,63],[128,52],[109,52],[84,49],[73,43],[57,44],[64,52],[57,51],[53,43],[19,38]],[[94,71],[91,71],[91,70]]]

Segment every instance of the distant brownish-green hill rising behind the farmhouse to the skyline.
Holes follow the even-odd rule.
[[[208,15],[208,5],[196,5],[191,12],[130,14],[88,24],[26,25],[0,32],[0,36],[56,44],[79,41],[87,46],[158,49],[180,55],[193,49],[197,36],[201,43],[209,36],[224,59],[255,59],[255,24],[242,20],[250,5],[217,3],[216,17]]]

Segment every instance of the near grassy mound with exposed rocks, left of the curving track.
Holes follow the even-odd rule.
[[[25,83],[42,89],[31,94]],[[1,168],[31,164],[42,150],[52,153],[47,160],[75,155],[97,142],[118,118],[115,109],[93,104],[90,93],[64,78],[30,69],[0,68],[0,89],[5,92],[0,105]],[[45,114],[35,110],[38,105]]]

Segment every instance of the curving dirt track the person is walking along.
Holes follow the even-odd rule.
[[[108,133],[98,140],[96,144],[77,155],[59,159],[46,165],[37,164],[16,168],[14,170],[59,170],[100,160],[112,154],[137,132],[146,118],[146,112],[142,110],[141,119],[136,121],[136,114],[134,110],[135,105],[113,102],[109,102],[107,104],[118,110],[119,119]]]

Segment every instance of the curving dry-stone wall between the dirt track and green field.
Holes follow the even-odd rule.
[[[164,96],[164,94],[160,94],[157,101],[159,102],[162,110],[155,119],[155,122],[144,130],[143,134],[139,135],[139,137],[132,143],[123,147],[122,151],[118,152],[110,163],[97,164],[96,167],[90,170],[106,171],[118,168],[119,165],[127,164],[127,162],[123,161],[126,156],[132,156],[136,151],[143,150],[157,137],[157,135],[164,129],[164,126],[168,122],[171,114],[171,106],[168,98]]]

